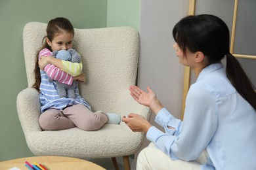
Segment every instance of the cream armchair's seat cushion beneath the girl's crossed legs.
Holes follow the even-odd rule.
[[[98,131],[83,131],[77,127],[62,131],[32,131],[27,142],[35,155],[106,158],[134,154],[142,138],[141,133],[106,124]]]

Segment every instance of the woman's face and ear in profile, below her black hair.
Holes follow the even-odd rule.
[[[176,50],[176,55],[179,58],[179,62],[182,65],[188,66],[188,67],[193,67],[194,66],[194,56],[192,52],[189,50],[186,50],[186,54],[182,52],[181,48],[177,43],[173,44],[173,48]]]

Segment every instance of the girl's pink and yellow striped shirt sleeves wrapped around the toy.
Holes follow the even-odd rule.
[[[39,56],[51,56],[52,53],[49,49],[44,48],[39,52]],[[71,63],[70,61],[62,60],[63,69],[59,69],[55,65],[49,63],[45,66],[44,71],[52,79],[58,82],[71,85],[74,80],[74,76],[81,74],[83,69],[82,63]]]

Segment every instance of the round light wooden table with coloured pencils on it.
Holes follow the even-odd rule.
[[[9,161],[0,161],[0,169],[11,169],[13,167],[18,167],[18,169],[27,170],[28,168],[25,166],[25,161],[28,161],[30,164],[41,163],[48,170],[58,170],[58,169],[93,169],[93,170],[102,170],[103,167],[96,165],[91,161],[80,160],[77,158],[69,158],[62,156],[33,156],[28,158],[18,158],[15,160]]]

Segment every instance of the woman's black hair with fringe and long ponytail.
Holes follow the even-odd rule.
[[[236,91],[256,110],[256,93],[238,60],[229,52],[229,30],[217,16],[186,16],[173,28],[173,38],[182,52],[203,52],[209,63],[226,56],[226,76]]]

